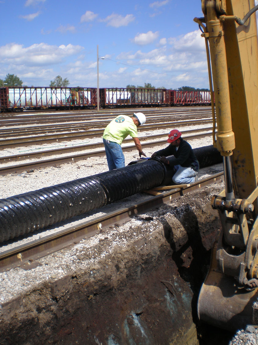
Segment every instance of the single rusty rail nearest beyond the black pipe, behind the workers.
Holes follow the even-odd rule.
[[[185,136],[184,139],[203,138],[203,137],[208,137],[208,136],[212,136],[212,132]],[[159,140],[159,141],[152,141],[152,142],[143,142],[141,146],[143,148],[153,147],[153,146],[158,146],[158,145],[164,145],[166,143],[167,143],[167,140]],[[131,151],[134,148],[135,148],[135,145],[122,146],[123,151]],[[105,154],[106,154],[105,150],[99,150],[99,151],[96,150],[96,151],[85,152],[82,154],[75,154],[72,156],[57,157],[57,158],[52,158],[52,159],[44,159],[44,160],[39,160],[39,161],[34,161],[34,162],[11,165],[7,167],[0,167],[0,175],[18,173],[18,172],[22,172],[26,170],[31,170],[31,169],[42,169],[49,166],[56,166],[56,165],[60,165],[64,163],[84,160],[92,156],[100,157],[100,156],[104,156]]]

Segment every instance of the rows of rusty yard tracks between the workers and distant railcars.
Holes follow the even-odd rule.
[[[144,111],[147,111],[147,109],[144,109]],[[137,110],[127,110],[128,113],[132,113],[133,111],[139,111]],[[19,152],[18,154],[9,155],[9,156],[2,156],[0,157],[0,175],[6,175],[11,173],[18,173],[22,171],[30,171],[34,169],[41,169],[44,167],[49,166],[58,166],[63,163],[67,162],[76,162],[78,160],[87,159],[91,156],[104,156],[105,150],[103,147],[103,142],[101,141],[101,135],[103,134],[104,128],[106,124],[110,121],[110,118],[114,118],[114,115],[120,114],[121,110],[114,110],[116,114],[110,114],[106,111],[102,114],[94,114],[93,111],[83,111],[83,115],[80,114],[80,112],[72,112],[74,115],[72,118],[76,121],[78,120],[78,117],[87,117],[88,120],[86,122],[76,122],[75,126],[76,128],[80,128],[79,131],[74,131],[75,127],[73,127],[70,132],[65,133],[59,133],[60,131],[60,124],[58,122],[55,122],[54,124],[48,124],[47,126],[44,126],[43,128],[39,129],[38,125],[35,125],[35,120],[41,121],[42,119],[47,119],[47,121],[54,121],[57,120],[59,117],[55,112],[47,114],[44,114],[42,112],[38,112],[35,114],[30,115],[16,115],[15,120],[20,119],[21,117],[24,120],[30,120],[30,126],[24,127],[24,126],[14,126],[10,129],[4,128],[1,130],[1,139],[0,139],[0,148],[2,150],[8,149],[8,148],[16,148],[16,147],[26,147],[26,146],[32,146],[37,145],[40,146],[42,144],[49,144],[49,143],[55,143],[53,144],[54,148],[44,150],[42,149],[29,149],[29,150],[23,150],[23,152]],[[167,129],[170,128],[172,125],[173,127],[187,127],[187,126],[194,126],[198,125],[209,125],[212,124],[212,118],[208,115],[207,112],[211,112],[210,107],[196,107],[194,109],[182,109],[182,108],[163,108],[163,109],[148,109],[148,120],[154,121],[151,123],[147,123],[146,125],[139,127],[139,131],[143,131],[146,133],[146,131],[150,131],[150,134],[148,132],[148,135],[139,136],[140,140],[142,141],[143,148],[149,148],[157,145],[165,144],[166,140],[162,139],[166,137],[166,134],[151,134],[152,130],[157,129]],[[59,113],[58,113],[59,114]],[[86,115],[85,115],[86,114]],[[66,116],[67,115],[67,116]],[[62,113],[62,120],[66,119],[68,117],[71,118],[71,112],[65,112],[64,116]],[[110,117],[110,118],[109,118]],[[108,118],[108,119],[107,119]],[[54,120],[53,120],[54,119]],[[93,121],[94,119],[94,121]],[[162,119],[162,121],[161,121]],[[12,116],[6,116],[1,115],[0,117],[0,126],[1,121],[9,121],[10,124],[13,119]],[[168,122],[166,122],[168,121]],[[34,126],[31,126],[31,124],[34,124]],[[73,123],[69,124],[62,124],[62,129],[67,130],[67,126],[72,126]],[[86,126],[86,127],[83,127]],[[90,128],[89,128],[90,127]],[[51,131],[53,134],[46,134],[45,131],[48,131],[49,128],[51,128]],[[81,130],[84,128],[84,130]],[[203,132],[203,133],[201,133]],[[24,134],[26,133],[26,136]],[[44,134],[45,133],[45,134]],[[211,136],[212,135],[212,127],[206,127],[205,132],[202,128],[200,129],[192,129],[192,130],[185,130],[182,131],[183,135],[187,139],[191,138],[198,138],[203,136]],[[205,134],[204,134],[205,133]],[[83,144],[83,145],[64,145],[62,144],[62,141],[73,141],[73,140],[82,140],[82,139],[90,139],[90,138],[99,138],[100,142],[92,142],[89,144]],[[162,140],[159,140],[162,139]],[[150,142],[151,140],[151,142]],[[90,141],[90,140],[89,140]],[[148,142],[145,142],[148,141]],[[56,143],[59,143],[59,147],[55,147]],[[126,139],[123,141],[122,149],[123,151],[130,151],[133,149],[133,144],[130,144],[132,142],[132,139]],[[62,146],[63,147],[60,147]],[[80,153],[81,151],[86,151],[83,153]],[[2,151],[3,153],[4,151]],[[73,153],[72,155],[67,155],[69,153]],[[51,157],[49,159],[45,159],[45,157],[49,156],[55,156]],[[57,156],[57,157],[56,157]],[[35,160],[40,159],[40,160]],[[22,162],[23,160],[30,160],[29,162]],[[15,162],[19,164],[14,164]],[[11,165],[8,165],[8,163],[12,163]]]

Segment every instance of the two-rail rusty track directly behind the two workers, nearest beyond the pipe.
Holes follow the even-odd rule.
[[[211,128],[210,128],[211,129]],[[186,133],[196,133],[198,131],[203,131],[203,129],[198,129],[198,130],[189,130],[189,131],[182,131],[182,134],[184,136],[184,139],[194,139],[194,138],[201,138],[201,137],[207,137],[207,136],[212,136],[212,131],[208,131],[205,132],[203,134],[190,134],[190,135],[184,135]],[[166,134],[162,135],[162,136],[167,136]],[[143,137],[144,140],[149,140],[150,138],[155,138],[155,137],[161,137],[161,135],[153,135],[153,136],[146,136]],[[142,140],[142,138],[140,138]],[[123,141],[123,143],[132,141],[132,139],[126,139]],[[153,147],[153,146],[158,146],[158,145],[163,145],[166,144],[167,140],[159,140],[159,141],[152,141],[152,142],[142,142],[141,146],[144,150],[144,148],[149,148],[149,147]],[[91,148],[98,148],[98,147],[103,147],[103,143],[100,142],[98,144],[88,144],[88,145],[84,145],[84,146],[80,146],[81,150],[86,150],[86,149],[91,149]],[[131,151],[132,149],[134,149],[135,146],[134,144],[132,145],[126,145],[126,146],[122,146],[122,150],[123,151]],[[23,157],[21,159],[31,159],[31,158],[35,158],[35,157],[39,157],[39,156],[47,156],[50,154],[57,154],[57,151],[59,151],[59,154],[61,153],[67,153],[67,152],[71,152],[71,151],[78,151],[78,147],[71,147],[69,148],[71,151],[65,151],[66,148],[62,149],[56,149],[56,150],[48,150],[48,151],[43,151],[43,152],[33,152],[31,154],[24,154],[24,155],[13,155],[13,156],[7,156],[7,157],[2,157],[0,159],[0,162],[7,162],[7,161],[17,161],[19,160],[19,157]],[[55,153],[54,153],[55,151]],[[87,159],[89,157],[92,156],[104,156],[105,153],[105,149],[102,150],[94,150],[94,151],[90,151],[90,152],[84,152],[82,154],[74,154],[71,156],[64,156],[64,157],[55,157],[55,158],[51,158],[51,159],[44,159],[44,160],[39,160],[39,161],[33,161],[33,162],[27,162],[27,163],[21,163],[21,164],[17,164],[17,165],[10,165],[10,166],[5,166],[5,167],[0,167],[0,175],[6,175],[6,174],[11,174],[11,173],[18,173],[18,172],[22,172],[22,171],[29,171],[29,170],[33,170],[33,169],[42,169],[45,167],[49,167],[49,166],[56,166],[56,165],[60,165],[60,164],[64,164],[64,163],[68,163],[68,162],[76,162],[79,160],[84,160]]]

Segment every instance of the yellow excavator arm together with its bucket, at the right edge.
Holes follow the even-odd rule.
[[[254,7],[254,1],[248,0],[202,0],[204,18],[194,19],[208,42],[217,124],[214,145],[223,156],[225,177],[224,193],[212,201],[222,230],[201,288],[198,315],[202,321],[229,329],[258,324],[258,43]]]

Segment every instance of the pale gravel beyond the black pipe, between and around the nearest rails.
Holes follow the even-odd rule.
[[[209,126],[207,126],[209,127]],[[189,127],[181,127],[181,130],[186,129],[193,129],[193,128],[203,128],[203,126],[189,126]],[[141,132],[139,137],[146,136],[146,135],[153,135],[153,134],[167,134],[168,130],[155,130],[155,131],[146,131]],[[40,148],[42,150],[47,150],[51,148],[59,148],[65,146],[72,146],[72,145],[83,145],[83,144],[94,144],[97,142],[101,142],[101,138],[92,138],[89,140],[74,140],[74,141],[66,141],[58,143],[51,143],[51,144],[42,144]],[[147,141],[144,141],[147,142]],[[212,137],[204,137],[200,139],[193,139],[188,140],[188,142],[192,145],[193,148],[202,147],[207,145],[212,145]],[[128,144],[126,144],[128,145]],[[122,144],[122,147],[124,144]],[[162,145],[164,147],[164,145]],[[151,148],[144,148],[144,153],[146,156],[151,156],[154,151],[159,150],[161,147],[151,147]],[[104,146],[103,146],[104,149]],[[97,149],[99,150],[99,149]],[[0,157],[9,156],[9,155],[17,155],[17,154],[25,154],[26,152],[35,152],[40,151],[39,145],[35,146],[28,146],[28,147],[17,147],[17,148],[7,148],[0,152]],[[85,150],[85,152],[92,151],[92,150]],[[82,153],[80,151],[79,153]],[[74,152],[76,154],[76,152]],[[67,155],[71,155],[71,152]],[[125,155],[125,164],[128,165],[131,161],[139,159],[138,151],[135,149],[135,146],[132,144],[132,151],[124,152]],[[50,156],[47,158],[53,158],[55,156]],[[46,158],[42,158],[46,159]],[[39,159],[36,159],[39,160]],[[32,160],[23,160],[22,162],[25,163],[27,161]],[[1,166],[5,165],[14,165],[17,162],[10,162],[7,164],[2,164]],[[56,184],[60,184],[67,181],[72,181],[77,178],[82,178],[86,176],[91,176],[98,174],[100,172],[104,172],[108,170],[107,160],[106,157],[90,157],[86,160],[81,160],[74,163],[66,163],[59,166],[52,166],[46,167],[44,169],[35,169],[31,173],[21,172],[19,174],[8,174],[4,176],[0,176],[0,198],[7,198],[9,196],[25,193],[27,191],[37,190],[44,187],[53,186]]]

